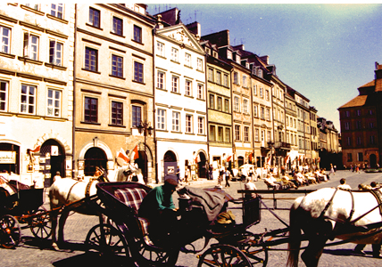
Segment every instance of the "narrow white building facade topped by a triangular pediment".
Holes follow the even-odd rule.
[[[192,176],[189,178],[206,178],[209,153],[204,50],[197,34],[181,23],[177,8],[156,14],[155,18],[158,180],[174,175],[177,166],[180,177],[188,169]]]

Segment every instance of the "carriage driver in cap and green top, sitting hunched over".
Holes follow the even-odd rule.
[[[164,180],[164,184],[155,187],[143,199],[139,207],[139,217],[150,221],[150,238],[163,240],[176,233],[178,229],[177,211],[172,201],[172,193],[176,190],[178,181],[173,178]],[[164,239],[163,239],[164,238]],[[166,239],[169,240],[169,239]]]

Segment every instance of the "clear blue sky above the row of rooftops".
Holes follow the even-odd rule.
[[[232,45],[269,55],[277,76],[338,131],[337,109],[382,64],[382,4],[145,4],[150,14],[178,7],[202,36],[228,29]]]

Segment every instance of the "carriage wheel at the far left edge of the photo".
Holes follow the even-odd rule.
[[[0,218],[0,242],[5,248],[13,248],[21,241],[21,228],[17,219],[12,215],[4,215]]]

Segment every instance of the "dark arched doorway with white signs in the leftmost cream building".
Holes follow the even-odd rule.
[[[39,158],[40,172],[44,174],[44,187],[49,187],[53,183],[56,172],[60,172],[65,177],[65,150],[59,142],[48,139],[40,148]]]

